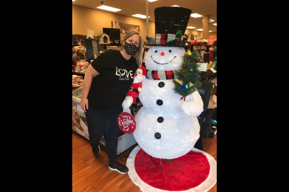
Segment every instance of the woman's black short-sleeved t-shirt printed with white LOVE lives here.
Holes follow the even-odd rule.
[[[91,65],[100,74],[92,79],[88,104],[97,109],[120,107],[138,68],[136,59],[126,60],[119,51],[108,49]]]

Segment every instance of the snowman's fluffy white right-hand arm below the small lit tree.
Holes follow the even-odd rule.
[[[182,109],[189,116],[198,116],[202,113],[204,104],[198,91],[194,91],[186,97],[186,101],[182,104]]]

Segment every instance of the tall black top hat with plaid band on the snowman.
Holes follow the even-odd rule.
[[[192,10],[185,7],[157,7],[154,10],[155,44],[153,46],[182,46]]]

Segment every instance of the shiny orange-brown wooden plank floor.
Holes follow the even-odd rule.
[[[202,139],[202,143],[203,150],[217,161],[217,137]],[[127,149],[118,156],[117,161],[126,165],[129,153],[130,149]],[[72,131],[72,191],[141,192],[128,174],[120,174],[108,169],[106,152],[101,150],[95,157],[89,140],[74,131]],[[209,192],[216,191],[217,184],[209,190]]]

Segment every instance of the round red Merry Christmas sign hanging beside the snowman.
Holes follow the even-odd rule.
[[[127,112],[122,112],[117,117],[117,125],[124,133],[130,134],[135,131],[135,118]]]

